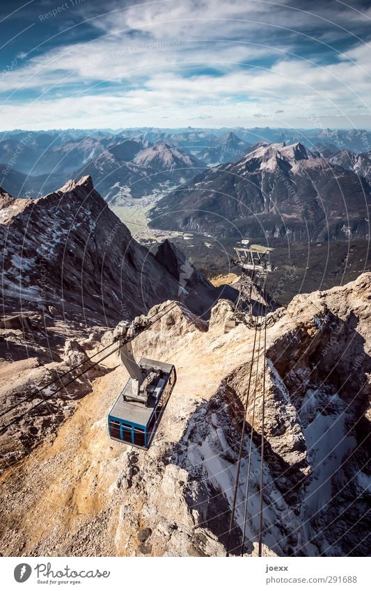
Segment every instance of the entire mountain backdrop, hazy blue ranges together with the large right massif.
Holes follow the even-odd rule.
[[[160,230],[368,238],[369,132],[235,131],[18,130],[0,140],[1,186],[35,198],[90,175],[110,205],[150,198],[150,226]]]

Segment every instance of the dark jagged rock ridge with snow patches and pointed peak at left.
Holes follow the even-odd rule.
[[[165,299],[180,299],[180,276],[132,239],[90,177],[35,200],[12,199],[3,191],[0,207],[6,312],[48,312],[52,306],[54,317],[113,326]],[[185,262],[183,257],[180,265]],[[197,281],[207,302],[184,301],[203,314],[219,291],[199,274]]]

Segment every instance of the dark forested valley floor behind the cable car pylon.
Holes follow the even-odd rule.
[[[235,255],[235,246],[241,246],[239,240],[195,234],[188,235],[187,239],[182,236],[170,239],[208,278],[237,272],[230,266],[230,260]],[[265,244],[259,238],[251,239],[251,244],[257,242]],[[276,293],[277,303],[283,306],[298,293],[342,285],[363,271],[371,270],[368,240],[306,244],[271,239],[269,246],[274,249],[271,253],[273,271],[267,276],[266,286],[269,293]]]

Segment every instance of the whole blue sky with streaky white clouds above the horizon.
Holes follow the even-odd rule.
[[[0,129],[371,129],[371,0],[1,0]]]

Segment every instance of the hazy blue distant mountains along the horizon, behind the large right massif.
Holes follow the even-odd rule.
[[[269,127],[15,129],[0,137],[0,184],[14,196],[35,197],[54,191],[68,178],[90,174],[102,196],[113,203],[127,195],[164,192],[190,180],[200,168],[238,161],[262,143],[297,142],[329,159],[343,150],[370,152],[371,133]]]

